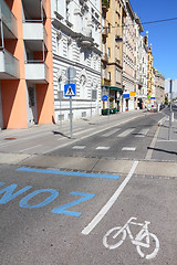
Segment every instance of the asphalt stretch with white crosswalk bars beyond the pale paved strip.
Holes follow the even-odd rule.
[[[48,155],[65,157],[145,159],[163,114],[143,115]]]

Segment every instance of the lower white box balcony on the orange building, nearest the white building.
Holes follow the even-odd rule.
[[[25,80],[34,84],[48,84],[49,67],[41,61],[28,61],[25,63]]]

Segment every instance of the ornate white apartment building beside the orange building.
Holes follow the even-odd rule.
[[[70,118],[69,82],[76,87],[73,118],[101,114],[101,1],[51,0],[51,15],[55,121]]]

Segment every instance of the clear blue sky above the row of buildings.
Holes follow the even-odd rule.
[[[177,18],[177,0],[129,0],[142,23]],[[154,67],[165,78],[177,80],[177,19],[174,21],[143,24],[154,56]]]

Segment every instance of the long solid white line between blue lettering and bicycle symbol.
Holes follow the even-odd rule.
[[[96,216],[91,221],[91,223],[81,232],[82,234],[90,234],[91,231],[101,222],[101,220],[105,216],[105,214],[108,212],[108,210],[113,206],[115,201],[118,199],[119,194],[124,190],[125,186],[131,180],[136,167],[138,165],[138,161],[135,161],[132,166],[132,169],[129,170],[129,173],[125,178],[125,180],[121,183],[118,189],[114,192],[114,194],[111,197],[111,199],[106,202],[106,204],[101,209],[101,211],[96,214]]]

